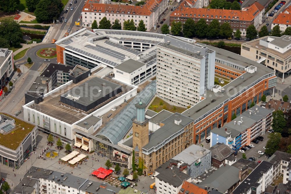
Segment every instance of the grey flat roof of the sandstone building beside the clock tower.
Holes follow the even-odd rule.
[[[175,119],[181,119],[179,125],[175,124]],[[172,116],[162,121],[162,123],[164,123],[164,126],[149,135],[149,142],[143,147],[143,149],[148,150],[152,147],[156,147],[161,142],[164,142],[174,133],[177,133],[179,130],[183,129],[191,122],[193,122],[193,119],[185,117],[180,113],[176,112],[172,114]]]

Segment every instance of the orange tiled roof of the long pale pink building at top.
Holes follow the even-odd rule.
[[[88,1],[83,7],[82,11],[100,13],[120,13],[120,14],[124,12],[125,14],[150,15],[153,12],[153,10],[159,5],[160,1],[161,0],[148,0],[143,6],[89,3]]]

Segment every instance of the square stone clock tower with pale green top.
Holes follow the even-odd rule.
[[[148,144],[148,119],[145,118],[145,107],[141,101],[135,104],[136,119],[132,121],[132,145],[135,152],[135,161],[142,157],[142,147]]]

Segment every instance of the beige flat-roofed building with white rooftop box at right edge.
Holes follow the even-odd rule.
[[[276,75],[290,73],[291,36],[265,36],[242,43],[241,55],[258,61],[276,71]]]

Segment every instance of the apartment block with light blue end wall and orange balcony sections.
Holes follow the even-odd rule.
[[[251,144],[253,139],[265,134],[271,127],[273,110],[255,105],[222,128],[213,128],[210,146],[223,143],[238,151],[241,147]]]

